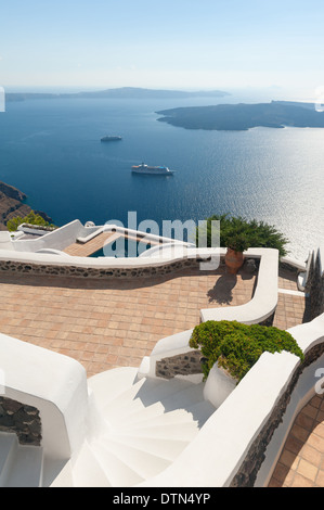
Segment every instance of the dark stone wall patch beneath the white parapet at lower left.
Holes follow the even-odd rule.
[[[23,445],[40,446],[39,410],[11,398],[0,397],[0,431],[14,432]]]

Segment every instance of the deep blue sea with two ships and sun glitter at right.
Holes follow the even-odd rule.
[[[274,225],[295,257],[324,244],[324,129],[204,131],[157,122],[158,110],[207,104],[216,101],[8,102],[0,180],[60,226],[76,218],[127,226],[128,212],[137,212],[138,224],[153,219],[161,228],[166,219],[231,213]],[[122,141],[102,143],[105,135]],[[132,175],[142,162],[176,174]]]

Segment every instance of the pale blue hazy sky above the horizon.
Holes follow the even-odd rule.
[[[323,0],[0,0],[0,86],[324,86]]]

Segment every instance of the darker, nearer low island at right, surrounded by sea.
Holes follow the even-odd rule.
[[[324,127],[324,112],[313,103],[272,101],[256,104],[217,104],[156,112],[157,120],[185,129],[247,130],[255,127]]]

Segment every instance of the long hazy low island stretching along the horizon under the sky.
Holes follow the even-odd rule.
[[[135,87],[122,87],[117,89],[106,89],[94,92],[75,92],[75,93],[33,93],[33,92],[8,92],[7,101],[26,101],[36,99],[182,99],[182,98],[223,98],[230,95],[222,90],[202,90],[202,91],[182,91],[182,90],[155,90],[142,89]]]

